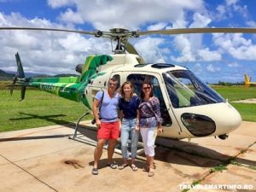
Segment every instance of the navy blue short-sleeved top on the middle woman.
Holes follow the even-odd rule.
[[[119,101],[119,110],[123,111],[125,119],[137,118],[137,109],[140,104],[140,100],[137,96],[132,96],[130,102],[126,102],[124,98]]]

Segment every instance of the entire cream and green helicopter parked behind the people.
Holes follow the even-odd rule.
[[[255,33],[255,28],[183,28],[144,32],[129,31],[124,28],[113,28],[109,32],[32,27],[0,27],[0,30],[77,32],[93,35],[96,38],[110,38],[111,41],[116,42],[113,55],[89,55],[84,64],[77,65],[76,71],[80,73],[79,77],[26,78],[20,55],[17,53],[15,57],[18,70],[11,92],[16,83],[20,84],[21,100],[25,97],[26,86],[35,86],[57,96],[82,102],[86,108],[91,109],[96,93],[107,89],[108,79],[118,79],[119,86],[125,81],[131,81],[138,96],[143,82],[150,81],[154,86],[154,96],[160,100],[163,119],[164,132],[158,137],[190,139],[213,136],[226,139],[230,131],[236,130],[241,125],[241,115],[236,108],[187,67],[166,63],[146,63],[128,40],[152,34]],[[83,115],[80,119],[82,117]]]

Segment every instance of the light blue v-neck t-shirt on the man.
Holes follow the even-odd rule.
[[[114,122],[118,120],[118,111],[119,111],[119,93],[115,93],[113,98],[110,98],[108,96],[108,90],[104,91],[104,96],[102,100],[102,90],[96,93],[96,100],[102,101],[100,105],[101,111],[100,111],[100,118],[102,122]]]

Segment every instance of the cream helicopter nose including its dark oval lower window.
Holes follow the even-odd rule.
[[[241,115],[228,102],[181,108],[181,121],[194,137],[222,136],[241,125]]]

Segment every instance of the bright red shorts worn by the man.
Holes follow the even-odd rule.
[[[101,128],[98,129],[98,139],[118,139],[119,138],[119,121],[102,122]]]

